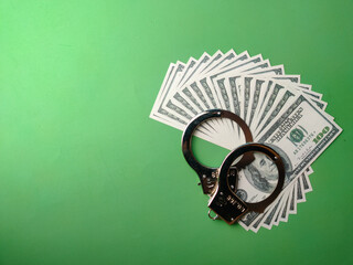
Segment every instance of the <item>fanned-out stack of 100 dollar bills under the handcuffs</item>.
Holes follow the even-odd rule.
[[[299,75],[285,74],[284,65],[272,66],[269,60],[248,52],[218,51],[188,63],[171,63],[150,117],[184,130],[200,113],[226,109],[246,121],[255,142],[281,156],[286,182],[280,195],[264,213],[250,212],[239,221],[246,230],[257,232],[297,213],[297,204],[312,190],[310,165],[342,131],[324,112],[328,104],[321,98],[311,85],[300,83]],[[195,136],[229,150],[245,144],[238,126],[221,118],[200,126]],[[277,169],[264,156],[257,155],[238,172],[238,194],[246,202],[261,201],[274,190]]]

